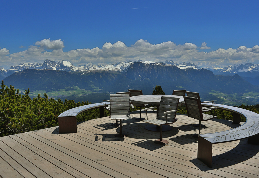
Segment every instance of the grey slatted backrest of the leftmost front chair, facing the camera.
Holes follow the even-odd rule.
[[[110,95],[111,115],[129,115],[129,94]]]

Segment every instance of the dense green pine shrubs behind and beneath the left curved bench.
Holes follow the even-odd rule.
[[[25,95],[19,94],[13,86],[7,87],[3,81],[0,86],[0,136],[18,134],[58,126],[58,116],[71,108],[91,104],[75,103],[73,100],[55,101],[38,95],[29,97],[30,90]],[[99,109],[92,109],[77,116],[77,122],[99,118]]]

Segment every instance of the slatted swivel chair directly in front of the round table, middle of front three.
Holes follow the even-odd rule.
[[[177,111],[177,106],[178,106],[179,98],[174,98],[174,97],[168,97],[168,96],[162,96],[159,109],[157,111],[157,118],[148,120],[148,109],[153,109],[156,108],[150,107],[150,108],[145,108],[144,110],[147,113],[147,120],[143,120],[143,122],[149,123],[149,124],[154,124],[157,126],[160,126],[160,140],[155,140],[154,143],[164,145],[167,144],[167,140],[162,139],[162,127],[163,125],[169,125],[175,123],[178,119],[175,118],[176,116],[176,111]]]

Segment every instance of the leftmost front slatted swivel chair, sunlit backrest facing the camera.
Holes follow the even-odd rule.
[[[114,136],[125,137],[127,134],[122,133],[121,120],[132,119],[129,110],[129,94],[111,94],[110,95],[110,109],[111,119],[120,120],[120,133]]]

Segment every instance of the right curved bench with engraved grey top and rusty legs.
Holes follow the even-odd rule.
[[[211,107],[211,104],[202,103],[203,106]],[[240,123],[240,116],[246,118],[246,122],[241,126],[211,134],[201,134],[198,137],[198,159],[204,162],[211,168],[212,161],[212,145],[215,143],[231,142],[234,140],[241,140],[248,138],[248,143],[259,144],[259,114],[252,111],[237,108],[233,106],[226,106],[221,104],[213,104],[218,109],[224,109],[235,113],[233,121]],[[235,124],[233,122],[233,124]]]

